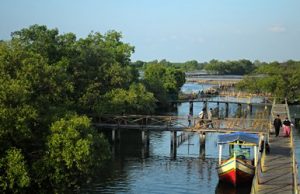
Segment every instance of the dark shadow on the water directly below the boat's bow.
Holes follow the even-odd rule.
[[[251,192],[251,183],[233,186],[219,181],[215,194],[245,194]]]

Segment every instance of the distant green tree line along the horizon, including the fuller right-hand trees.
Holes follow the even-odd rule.
[[[300,61],[267,63],[246,59],[232,61],[213,59],[204,63],[196,60],[174,63],[164,59],[150,62],[136,61],[131,65],[144,70],[151,63],[164,64],[185,72],[205,70],[210,74],[244,75],[244,79],[237,85],[239,90],[250,93],[269,93],[281,100],[287,98],[290,103],[299,103],[300,100]]]

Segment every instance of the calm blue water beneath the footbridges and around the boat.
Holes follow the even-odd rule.
[[[196,91],[203,87],[186,84],[183,90]],[[209,104],[209,107],[216,105]],[[194,115],[201,109],[202,103],[195,103]],[[236,109],[237,106],[230,105],[230,116],[235,115]],[[172,114],[187,115],[188,103],[179,105]],[[177,148],[177,157],[173,159],[170,132],[150,132],[147,149],[141,145],[140,133],[123,131],[120,143],[113,147],[113,160],[99,173],[99,178],[84,186],[80,193],[250,193],[251,185],[234,188],[219,183],[217,135],[208,133],[204,147],[200,146],[199,135],[191,133],[190,140]],[[300,132],[297,131],[296,136],[300,161]]]

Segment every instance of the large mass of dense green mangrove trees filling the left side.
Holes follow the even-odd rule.
[[[153,113],[179,91],[182,71],[153,63],[140,78],[121,38],[33,25],[0,41],[1,191],[74,188],[110,157],[85,115]]]

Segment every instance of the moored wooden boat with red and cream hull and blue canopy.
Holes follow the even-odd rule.
[[[229,150],[226,159],[222,157],[224,145],[228,145]],[[219,163],[217,166],[219,180],[234,186],[251,183],[258,161],[258,145],[257,134],[234,132],[219,135]]]

